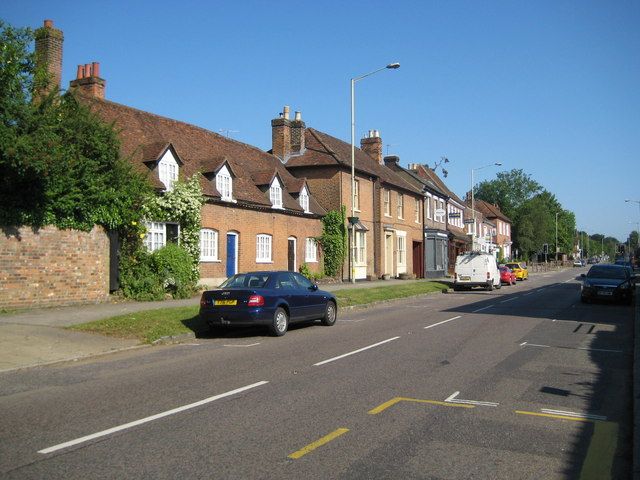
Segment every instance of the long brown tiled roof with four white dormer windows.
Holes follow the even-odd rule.
[[[284,182],[283,205],[286,209],[302,213],[298,202],[289,195],[300,180],[294,177],[273,155],[259,148],[218,135],[188,123],[161,117],[125,105],[93,97],[80,97],[103,121],[113,123],[119,130],[121,153],[144,173],[149,173],[152,184],[163,188],[157,169],[149,172],[149,162],[159,159],[168,146],[179,157],[181,171],[190,177],[196,172],[204,174],[201,185],[203,194],[213,201],[220,199],[213,173],[225,162],[229,165],[233,180],[233,196],[247,206],[271,208],[269,193],[260,188],[253,175],[261,172],[277,173]],[[323,215],[326,211],[313,199],[312,213]]]

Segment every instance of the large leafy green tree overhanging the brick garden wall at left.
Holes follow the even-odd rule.
[[[128,228],[150,186],[120,157],[111,125],[70,93],[42,93],[32,40],[0,22],[0,224]]]

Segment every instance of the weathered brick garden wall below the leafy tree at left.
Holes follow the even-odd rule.
[[[101,302],[109,296],[109,238],[44,227],[2,228],[0,308]]]

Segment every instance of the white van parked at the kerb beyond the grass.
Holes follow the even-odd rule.
[[[471,287],[483,287],[491,291],[501,286],[498,262],[493,255],[482,252],[458,255],[453,281],[455,291]]]

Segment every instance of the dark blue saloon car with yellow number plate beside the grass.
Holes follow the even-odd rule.
[[[331,326],[337,317],[335,296],[297,272],[239,273],[200,298],[200,318],[212,329],[265,325],[279,337],[290,323],[319,319]]]

